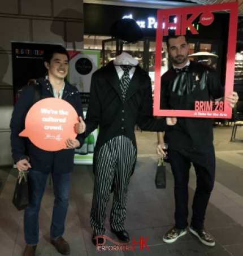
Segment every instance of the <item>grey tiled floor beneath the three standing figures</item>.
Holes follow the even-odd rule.
[[[134,241],[146,237],[146,245],[134,251],[97,251],[90,240],[92,229],[89,213],[93,193],[92,166],[75,166],[70,191],[70,208],[64,238],[70,243],[71,254],[86,255],[151,255],[151,256],[227,256],[243,255],[243,128],[238,128],[236,140],[229,142],[232,127],[215,127],[216,182],[207,210],[205,225],[215,237],[216,245],[209,248],[188,233],[173,244],[164,244],[162,236],[173,225],[173,177],[167,165],[167,188],[156,189],[155,154],[156,133],[136,131],[138,159],[129,185],[127,220],[125,229]],[[8,173],[10,174],[8,175]],[[21,255],[24,248],[23,211],[11,203],[18,171],[1,168],[0,177],[0,256]],[[0,185],[1,185],[0,183]],[[195,189],[196,177],[192,168],[189,183],[189,212]],[[47,184],[40,211],[40,242],[36,255],[60,255],[50,245],[49,228],[53,207],[52,187]],[[118,241],[110,232],[109,213],[112,197],[107,206],[106,235]],[[107,240],[106,245],[114,245]]]

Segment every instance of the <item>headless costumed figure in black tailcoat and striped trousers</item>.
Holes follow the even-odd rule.
[[[96,235],[105,234],[105,210],[114,184],[111,228],[124,229],[127,189],[134,170],[137,147],[134,125],[145,131],[165,131],[165,119],[153,118],[153,99],[149,75],[137,60],[122,53],[107,66],[94,72],[86,114],[85,136],[99,125],[94,151],[94,194],[91,225]],[[129,85],[123,97],[121,65],[132,66]]]

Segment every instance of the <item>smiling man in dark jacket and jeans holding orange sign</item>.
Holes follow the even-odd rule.
[[[77,114],[83,118],[83,108],[80,94],[67,80],[69,55],[62,46],[53,46],[44,52],[46,77],[37,80],[41,85],[41,99],[60,98],[70,103]],[[28,156],[25,156],[25,139],[19,133],[25,128],[25,117],[33,105],[34,88],[28,85],[16,102],[11,127],[12,157],[19,171],[28,170],[29,206],[24,211],[24,235],[26,247],[24,256],[33,256],[38,243],[38,215],[41,199],[45,192],[49,173],[53,177],[54,207],[51,221],[51,243],[62,254],[69,254],[68,243],[62,237],[64,222],[68,210],[68,193],[70,189],[71,172],[73,169],[74,149],[83,145],[83,138],[77,135],[75,140],[68,139],[67,149],[45,151],[28,141]]]

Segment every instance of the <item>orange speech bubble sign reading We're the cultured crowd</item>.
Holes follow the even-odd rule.
[[[67,147],[68,138],[76,137],[74,125],[79,122],[76,110],[63,99],[46,98],[35,103],[25,118],[25,129],[19,136],[46,151]]]

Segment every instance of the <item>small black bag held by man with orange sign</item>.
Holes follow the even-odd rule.
[[[23,171],[19,172],[12,203],[19,211],[24,210],[29,204],[28,181]]]

